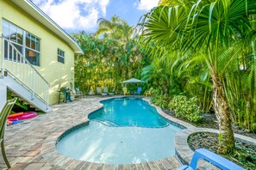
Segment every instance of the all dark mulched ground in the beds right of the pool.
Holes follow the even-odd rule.
[[[177,118],[174,112],[170,110],[164,110],[164,112],[171,115],[172,117]],[[181,119],[189,124],[193,124],[196,127],[211,128],[216,130],[219,128],[217,124],[217,118],[215,118],[214,113],[203,113],[203,119],[198,123],[191,123],[183,118],[178,119]],[[232,124],[232,128],[234,133],[247,137],[253,137],[256,139],[256,133],[250,132],[247,129],[241,128],[240,126],[235,124]],[[195,133],[190,135],[188,139],[190,149],[195,150],[199,148],[204,148],[209,149],[216,154],[218,149],[218,143],[218,135],[209,132]],[[250,143],[244,143],[240,139],[235,138],[235,148],[232,153],[222,156],[242,167],[245,167],[246,169],[256,169],[256,146]]]

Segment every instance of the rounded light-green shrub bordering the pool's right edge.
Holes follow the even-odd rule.
[[[197,103],[197,97],[189,99],[184,95],[176,95],[169,102],[168,108],[175,113],[175,116],[196,123],[203,118]]]

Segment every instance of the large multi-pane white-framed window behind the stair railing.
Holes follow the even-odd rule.
[[[30,64],[40,65],[40,39],[32,33],[28,33],[21,27],[3,20],[3,37],[9,39],[16,46],[16,49],[25,56]],[[4,58],[8,58],[7,42],[5,41]],[[16,57],[16,53],[12,55],[12,48],[9,48],[9,60],[19,62],[20,57]]]

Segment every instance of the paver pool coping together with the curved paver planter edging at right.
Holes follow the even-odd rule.
[[[113,98],[123,98],[125,96],[113,96],[108,97],[102,100],[110,100]],[[102,100],[98,100],[97,106],[94,107],[94,109],[91,112],[96,112],[97,110],[101,109],[103,107],[103,104],[100,102]],[[161,169],[169,169],[169,167],[172,167],[173,169],[181,167],[183,164],[189,164],[190,160],[192,158],[192,155],[194,154],[193,150],[190,149],[187,140],[188,137],[197,132],[213,132],[218,133],[218,130],[214,129],[207,129],[207,128],[197,128],[196,126],[186,123],[182,120],[179,120],[178,118],[173,118],[172,116],[166,114],[162,111],[162,109],[159,106],[155,106],[150,102],[149,98],[142,98],[142,100],[145,100],[148,102],[150,106],[153,106],[159,114],[166,118],[167,120],[170,120],[174,122],[175,124],[180,124],[184,126],[186,129],[178,131],[178,133],[174,137],[174,148],[176,155],[178,156],[172,156],[167,157],[162,160],[157,161],[148,161],[140,164],[129,164],[129,165],[111,165],[111,164],[103,164],[103,163],[95,163],[90,161],[79,161],[76,159],[72,159],[71,157],[68,157],[66,155],[62,155],[59,153],[59,151],[56,149],[56,143],[58,143],[59,137],[62,137],[67,131],[72,131],[74,128],[78,128],[79,125],[88,124],[90,122],[88,116],[91,114],[88,113],[86,115],[86,118],[79,119],[76,124],[67,125],[66,129],[63,130],[56,130],[53,132],[52,136],[47,137],[42,143],[41,146],[41,155],[43,159],[45,159],[48,163],[53,165],[54,167],[60,168],[60,169],[97,169],[98,167],[102,167],[102,169],[129,169],[130,167],[133,169],[154,169],[154,167],[162,167]],[[245,137],[242,135],[234,134],[234,137],[240,138],[243,140],[243,142],[247,143],[253,143],[256,145],[256,139],[252,137]],[[179,161],[178,161],[179,160]],[[182,162],[182,163],[181,163]],[[219,169],[213,165],[211,165],[207,161],[200,160],[198,161],[199,168],[201,169]],[[101,168],[99,168],[101,169]]]

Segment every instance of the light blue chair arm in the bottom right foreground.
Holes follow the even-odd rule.
[[[196,170],[197,169],[197,161],[203,159],[205,161],[209,161],[216,167],[220,167],[223,170],[243,170],[243,167],[236,165],[232,161],[228,161],[220,155],[216,155],[215,153],[207,150],[207,149],[197,149],[190,161],[190,165],[184,165],[180,167],[178,170]]]

